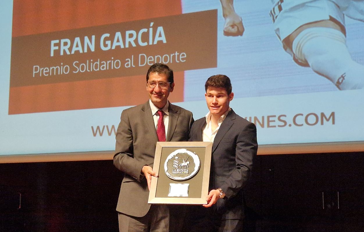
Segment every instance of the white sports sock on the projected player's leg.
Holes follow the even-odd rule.
[[[312,70],[332,81],[339,89],[363,89],[364,66],[353,61],[343,33],[333,28],[303,30],[293,41],[292,50]]]

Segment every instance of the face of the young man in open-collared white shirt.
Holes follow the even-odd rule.
[[[207,107],[213,117],[219,118],[229,109],[234,93],[227,94],[225,88],[210,86],[205,93]]]

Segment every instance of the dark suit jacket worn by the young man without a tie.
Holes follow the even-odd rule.
[[[205,117],[195,121],[190,141],[202,141],[205,126]],[[213,213],[221,215],[222,220],[244,217],[242,190],[257,150],[256,126],[230,110],[215,136],[210,169],[209,190],[221,188],[226,194],[211,207]]]

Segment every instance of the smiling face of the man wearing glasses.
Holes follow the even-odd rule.
[[[157,83],[168,82],[168,78],[166,74],[150,73],[148,81]],[[162,109],[163,106],[166,105],[169,93],[173,91],[173,88],[174,88],[174,83],[169,84],[165,88],[161,88],[159,87],[159,85],[156,85],[154,88],[151,88],[147,84],[147,91],[149,93],[149,98],[152,101],[152,103],[159,109]]]

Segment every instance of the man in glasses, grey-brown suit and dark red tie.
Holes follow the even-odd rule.
[[[124,173],[116,211],[119,231],[171,231],[166,205],[148,204],[158,141],[187,141],[193,116],[168,101],[173,71],[156,63],[147,72],[149,101],[123,110],[116,131],[114,165]]]

